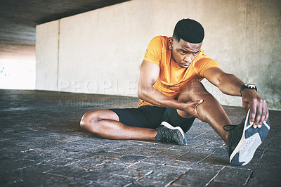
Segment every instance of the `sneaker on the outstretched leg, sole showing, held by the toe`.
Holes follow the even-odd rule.
[[[268,136],[269,121],[263,122],[261,128],[254,129],[249,124],[249,112],[250,110],[240,124],[228,124],[223,127],[223,129],[229,131],[226,149],[230,157],[230,165],[233,166],[247,165],[253,158],[256,149]]]

